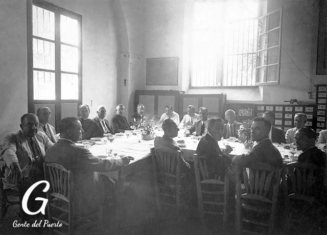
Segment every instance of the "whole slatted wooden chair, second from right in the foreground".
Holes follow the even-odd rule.
[[[237,166],[236,226],[238,234],[273,234],[282,169],[255,162]],[[242,180],[244,189],[242,189]]]

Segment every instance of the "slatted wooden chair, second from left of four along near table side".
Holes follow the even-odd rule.
[[[193,157],[201,223],[204,224],[205,214],[222,215],[225,226],[228,214],[229,175],[226,172],[224,180],[209,178],[205,157],[197,154]]]

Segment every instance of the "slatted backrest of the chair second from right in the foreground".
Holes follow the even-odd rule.
[[[263,162],[237,166],[237,186],[240,186],[243,177],[246,197],[271,203],[277,200],[281,172],[281,168],[275,169]]]

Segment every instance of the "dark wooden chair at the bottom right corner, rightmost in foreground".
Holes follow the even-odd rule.
[[[322,229],[326,229],[327,219],[325,169],[319,169],[317,165],[308,162],[291,162],[286,167],[290,203],[288,231],[292,234],[322,232]],[[321,234],[325,233],[326,231]]]

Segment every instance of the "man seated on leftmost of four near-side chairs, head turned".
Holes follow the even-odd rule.
[[[159,136],[155,137],[154,148],[166,147],[175,151],[178,150],[182,151],[177,145],[177,143],[175,142],[175,140],[173,139],[174,137],[177,136],[179,131],[176,123],[171,119],[166,119],[162,123],[162,130],[164,130],[164,135],[162,135],[162,137]],[[184,171],[186,168],[190,168],[189,163],[187,163],[183,157],[182,157],[182,162],[184,163],[181,166],[182,171]]]

